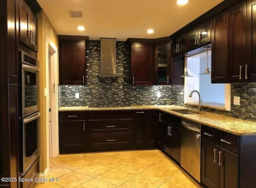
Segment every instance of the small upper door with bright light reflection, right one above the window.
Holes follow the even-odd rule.
[[[204,45],[211,42],[211,27],[212,22],[208,21],[199,26],[198,29],[198,39],[199,45]]]

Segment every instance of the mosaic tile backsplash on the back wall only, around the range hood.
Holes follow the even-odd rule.
[[[131,105],[174,104],[174,86],[130,85],[130,47],[116,42],[117,74],[123,77],[99,78],[100,41],[86,43],[86,85],[59,86],[59,106],[121,107]],[[160,92],[160,97],[157,93]],[[75,93],[80,98],[75,98]]]

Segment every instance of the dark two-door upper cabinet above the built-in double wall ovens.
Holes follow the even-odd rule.
[[[38,51],[38,31],[36,15],[24,0],[20,0],[20,41]]]

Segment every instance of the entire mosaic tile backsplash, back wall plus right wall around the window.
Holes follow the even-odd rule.
[[[119,78],[98,78],[100,74],[100,41],[86,43],[87,80],[82,86],[59,86],[59,106],[121,107],[131,105],[184,105],[184,86],[130,85],[130,48],[126,42],[116,42],[117,73]],[[236,118],[256,120],[256,83],[232,84],[231,111],[206,109]],[[157,93],[160,92],[160,98]],[[80,98],[75,98],[75,93]],[[240,96],[240,106],[233,105],[233,97]],[[187,106],[196,108],[194,106]]]

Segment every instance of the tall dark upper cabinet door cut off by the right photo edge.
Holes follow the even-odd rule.
[[[247,1],[246,80],[256,82],[256,0]],[[249,78],[247,78],[247,76]]]

